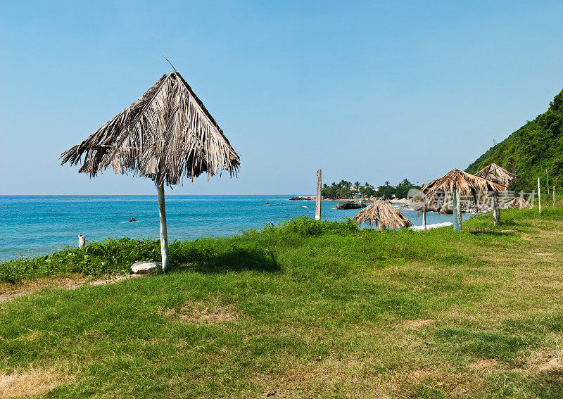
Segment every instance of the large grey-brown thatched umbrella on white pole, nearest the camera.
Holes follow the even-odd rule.
[[[158,191],[163,270],[168,267],[164,185],[205,172],[208,177],[220,170],[236,175],[240,165],[239,155],[215,119],[176,70],[160,77],[140,99],[61,158],[61,165],[82,163],[79,172],[90,177],[111,166],[123,175],[153,180]]]

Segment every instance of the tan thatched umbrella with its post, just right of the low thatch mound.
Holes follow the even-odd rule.
[[[453,229],[456,232],[462,229],[462,207],[460,196],[462,193],[470,194],[476,198],[479,192],[502,191],[504,187],[493,183],[483,177],[470,175],[459,169],[450,170],[445,175],[432,180],[429,184],[422,187],[422,192],[426,194],[427,201],[434,201],[438,193],[452,194],[454,223]]]

